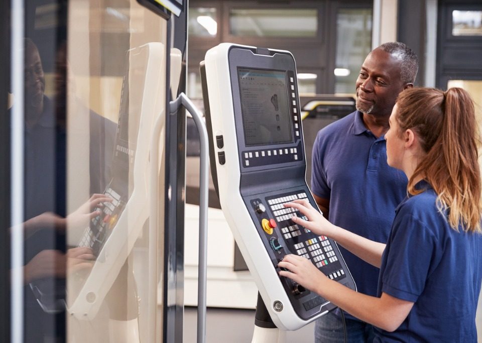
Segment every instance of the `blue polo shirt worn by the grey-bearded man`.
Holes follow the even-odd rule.
[[[405,198],[405,174],[387,165],[384,137],[376,138],[355,111],[320,130],[313,146],[311,191],[330,199],[329,220],[386,243],[395,208]],[[340,247],[361,293],[376,295],[380,270]]]

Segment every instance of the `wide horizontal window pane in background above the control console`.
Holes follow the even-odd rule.
[[[249,37],[316,37],[316,9],[231,9],[229,32]]]

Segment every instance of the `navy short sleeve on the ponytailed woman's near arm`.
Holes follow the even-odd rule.
[[[382,292],[415,302],[425,288],[437,240],[423,222],[406,213],[395,218],[389,244]]]

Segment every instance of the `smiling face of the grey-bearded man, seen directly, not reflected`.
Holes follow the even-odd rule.
[[[400,66],[401,60],[394,55],[379,48],[372,51],[356,79],[356,109],[374,116],[390,116],[404,88]]]

